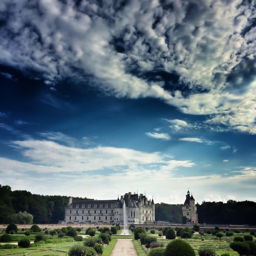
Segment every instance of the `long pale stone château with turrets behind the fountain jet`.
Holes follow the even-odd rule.
[[[144,224],[155,221],[154,200],[146,195],[122,195],[117,200],[73,201],[69,198],[65,209],[67,224]]]

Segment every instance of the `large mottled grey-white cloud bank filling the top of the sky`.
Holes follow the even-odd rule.
[[[71,78],[155,97],[256,134],[253,1],[3,0],[0,15],[0,63],[39,72],[46,85]]]

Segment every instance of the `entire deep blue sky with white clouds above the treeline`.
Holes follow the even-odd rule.
[[[0,184],[256,201],[254,0],[1,0]]]

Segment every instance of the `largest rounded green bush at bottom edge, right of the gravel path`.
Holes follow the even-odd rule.
[[[164,256],[195,256],[195,251],[184,240],[175,239],[167,245]]]

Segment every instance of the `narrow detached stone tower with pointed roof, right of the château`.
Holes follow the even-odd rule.
[[[182,215],[186,217],[187,223],[198,223],[198,213],[197,207],[195,205],[195,199],[193,195],[189,193],[186,194],[186,200],[182,206]]]

